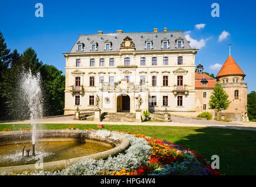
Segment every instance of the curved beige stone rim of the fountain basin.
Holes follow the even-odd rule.
[[[100,153],[85,155],[83,157],[76,157],[70,158],[66,160],[59,160],[59,161],[50,161],[43,163],[43,169],[36,169],[36,164],[28,164],[28,165],[16,165],[16,166],[9,166],[9,167],[0,167],[0,174],[2,172],[13,172],[17,174],[21,174],[22,172],[33,172],[33,171],[56,171],[63,168],[68,167],[75,162],[78,162],[83,159],[95,159],[99,160],[100,158],[106,159],[110,155],[114,156],[129,147],[130,141],[128,138],[121,136],[121,135],[112,135],[114,139],[111,137],[102,138],[96,136],[95,130],[38,130],[36,131],[36,136],[38,140],[43,140],[44,138],[52,138],[52,140],[56,138],[82,138],[82,141],[89,139],[89,140],[97,140],[102,141],[103,143],[113,144],[114,148],[110,150],[106,150]],[[18,130],[18,131],[6,131],[0,132],[0,146],[4,143],[8,143],[8,140],[11,141],[25,141],[28,138],[31,138],[32,131],[31,130]],[[19,138],[18,138],[19,137]],[[15,139],[16,138],[16,139]],[[23,138],[23,139],[22,139]]]

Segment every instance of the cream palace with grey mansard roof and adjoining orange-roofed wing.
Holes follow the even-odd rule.
[[[65,115],[96,108],[112,115],[130,113],[130,118],[144,110],[183,115],[207,110],[216,81],[203,73],[202,65],[195,74],[198,49],[189,43],[182,30],[167,28],[80,34],[70,52],[63,54]],[[217,78],[224,79],[224,74]],[[241,81],[242,76],[234,78]]]

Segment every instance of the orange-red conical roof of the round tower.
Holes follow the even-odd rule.
[[[227,60],[223,64],[223,67],[221,67],[220,71],[218,72],[216,78],[224,77],[225,75],[242,75],[243,77],[245,76],[244,72],[237,65],[231,55],[228,56]]]

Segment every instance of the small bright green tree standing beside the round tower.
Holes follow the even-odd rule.
[[[224,91],[223,88],[221,88],[220,82],[217,82],[210,96],[210,109],[214,109],[216,112],[220,112],[221,110],[228,109],[230,103],[231,101],[228,100],[227,93]]]

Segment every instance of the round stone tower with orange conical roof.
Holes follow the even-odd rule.
[[[217,81],[221,83],[222,88],[228,94],[228,99],[231,101],[230,106],[225,110],[225,118],[236,121],[247,121],[248,119],[248,86],[244,82],[244,77],[244,72],[237,65],[233,57],[231,55],[228,56],[216,76]]]

